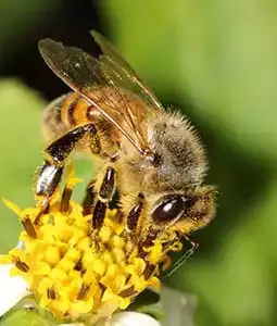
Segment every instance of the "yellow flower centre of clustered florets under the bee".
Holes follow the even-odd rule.
[[[58,191],[47,209],[21,210],[4,200],[24,230],[23,246],[0,262],[14,264],[11,275],[24,278],[41,309],[61,319],[93,324],[125,310],[147,287],[160,289],[160,264],[168,267],[167,251],[180,250],[181,243],[171,240],[165,252],[156,240],[141,254],[126,240],[117,210],[108,210],[95,231],[91,216],[84,216],[81,205],[71,199],[79,181],[71,173],[63,193]]]

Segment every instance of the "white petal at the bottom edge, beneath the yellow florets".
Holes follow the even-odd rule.
[[[161,326],[149,315],[133,311],[114,314],[110,323],[111,326]]]

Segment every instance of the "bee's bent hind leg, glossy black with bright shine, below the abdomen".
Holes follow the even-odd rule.
[[[37,177],[35,195],[47,202],[56,190],[65,162],[77,145],[88,141],[91,152],[99,154],[100,140],[93,124],[78,126],[54,140],[45,150],[45,163]]]

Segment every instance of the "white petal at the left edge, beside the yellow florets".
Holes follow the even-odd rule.
[[[28,294],[27,284],[20,276],[10,276],[12,264],[0,265],[0,316]]]

